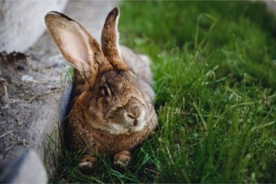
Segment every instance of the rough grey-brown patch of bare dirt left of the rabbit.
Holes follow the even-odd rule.
[[[65,62],[56,48],[39,50],[43,47],[39,43],[49,39],[47,34],[43,37],[28,54],[0,53],[1,85],[8,92],[8,99],[0,101],[0,161],[33,147],[36,133],[29,130],[37,114],[46,103],[57,101],[63,90],[60,76]]]

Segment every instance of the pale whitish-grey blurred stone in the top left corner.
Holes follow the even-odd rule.
[[[44,15],[67,1],[0,1],[0,52],[24,52],[43,34]],[[31,35],[30,35],[31,33]]]

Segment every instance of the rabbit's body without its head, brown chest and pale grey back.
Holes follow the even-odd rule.
[[[150,101],[154,99],[154,91],[151,88],[152,75],[150,72],[150,60],[146,57],[136,54],[126,46],[121,45],[121,56],[128,68],[137,76],[140,90],[150,96]],[[135,146],[143,142],[152,129],[155,128],[157,116],[152,109],[152,120],[150,125],[139,132],[127,132],[125,134],[110,134],[106,130],[99,130],[92,126],[87,126],[82,109],[87,99],[97,94],[87,94],[89,85],[81,76],[78,70],[75,70],[75,83],[72,90],[72,99],[70,114],[68,116],[68,125],[66,126],[66,136],[68,145],[72,150],[87,149],[91,153],[97,151],[99,154],[112,155],[124,150],[132,150]],[[148,101],[148,103],[150,103]],[[90,102],[91,103],[91,102]],[[97,103],[97,102],[95,102]],[[95,110],[95,114],[97,113]]]

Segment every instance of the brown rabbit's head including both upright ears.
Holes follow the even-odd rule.
[[[137,76],[121,58],[118,19],[119,9],[114,8],[104,23],[100,46],[82,25],[66,15],[49,12],[45,17],[61,54],[89,85],[75,102],[86,123],[110,134],[153,129],[157,118],[150,98],[139,89]]]

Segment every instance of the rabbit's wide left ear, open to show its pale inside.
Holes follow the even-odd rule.
[[[83,77],[95,80],[106,59],[99,43],[76,21],[59,12],[48,12],[45,22],[63,57]]]

